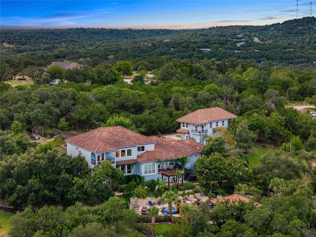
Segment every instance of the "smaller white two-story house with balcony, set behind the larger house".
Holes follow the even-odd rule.
[[[180,122],[181,140],[193,138],[197,142],[204,144],[203,137],[213,136],[218,127],[228,127],[228,120],[237,118],[236,115],[219,107],[196,110],[176,121]]]

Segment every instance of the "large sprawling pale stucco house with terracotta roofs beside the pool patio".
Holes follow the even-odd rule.
[[[124,175],[137,174],[145,180],[175,176],[178,158],[187,156],[186,168],[194,168],[203,145],[193,140],[163,140],[147,137],[121,126],[100,127],[67,138],[67,154],[79,153],[89,168],[109,160]]]

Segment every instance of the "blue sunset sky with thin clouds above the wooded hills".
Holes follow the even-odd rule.
[[[311,0],[0,0],[1,28],[196,29],[311,16]],[[315,15],[316,1],[312,1]]]

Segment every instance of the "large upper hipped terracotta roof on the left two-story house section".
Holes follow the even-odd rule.
[[[155,140],[122,126],[96,128],[65,141],[91,152],[109,152],[119,147],[155,143]]]

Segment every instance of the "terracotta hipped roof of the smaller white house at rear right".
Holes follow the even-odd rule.
[[[188,122],[194,124],[203,124],[210,121],[237,118],[236,115],[223,110],[219,107],[196,110],[188,115],[178,118],[177,122]]]

